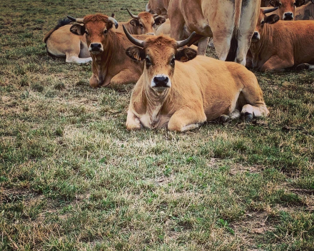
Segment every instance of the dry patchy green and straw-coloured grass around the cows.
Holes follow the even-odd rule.
[[[129,133],[133,85],[41,41],[127,2],[0,1],[0,250],[314,250],[314,72],[256,73],[269,118]]]

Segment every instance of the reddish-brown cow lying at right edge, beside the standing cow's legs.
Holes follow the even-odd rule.
[[[265,16],[260,10],[250,45],[253,68],[280,72],[301,64],[300,68],[313,69],[308,65],[314,62],[313,41],[313,21],[279,21],[278,15]]]

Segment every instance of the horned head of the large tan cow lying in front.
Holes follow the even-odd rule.
[[[145,61],[143,76],[145,76],[146,87],[155,93],[165,93],[171,88],[175,62],[186,62],[196,57],[197,52],[192,48],[181,48],[186,46],[195,36],[195,32],[183,41],[176,41],[168,36],[152,36],[145,41],[134,39],[123,26],[128,40],[136,46],[126,50],[126,54],[137,61]]]

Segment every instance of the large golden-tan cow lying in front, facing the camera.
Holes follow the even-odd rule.
[[[126,53],[145,61],[144,71],[131,95],[126,128],[163,128],[185,131],[206,121],[241,116],[268,116],[255,75],[239,63],[197,56],[184,41],[152,36],[145,41],[126,36],[136,46]],[[193,61],[191,59],[195,58]]]

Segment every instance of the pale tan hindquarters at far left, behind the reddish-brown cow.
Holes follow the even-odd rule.
[[[66,57],[66,63],[88,63],[91,61],[91,53],[88,51],[85,34],[72,34],[71,22],[71,19],[60,20],[44,36],[46,50],[50,56]]]

